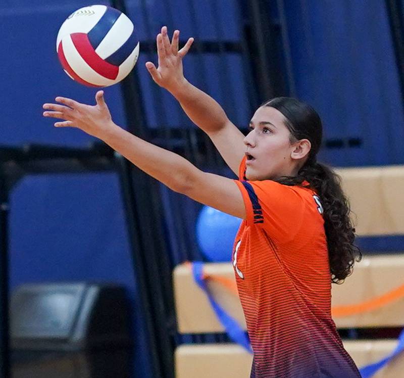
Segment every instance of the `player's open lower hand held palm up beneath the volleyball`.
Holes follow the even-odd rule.
[[[43,116],[63,119],[55,123],[56,127],[77,127],[100,139],[118,127],[112,121],[103,90],[97,91],[95,105],[81,104],[65,97],[57,97],[55,101],[59,104],[43,104]]]

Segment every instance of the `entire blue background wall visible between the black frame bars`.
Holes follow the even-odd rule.
[[[196,41],[225,40],[240,44],[241,50],[249,48],[246,2],[125,3],[140,43],[153,42],[160,27],[168,25],[171,31],[180,29],[183,39],[194,36]],[[384,2],[268,3],[272,7],[268,22],[277,30],[284,53],[279,75],[288,78],[289,93],[311,103],[322,116],[325,145],[321,159],[334,166],[404,163],[404,114]],[[95,90],[73,82],[61,69],[56,54],[60,25],[72,11],[86,5],[87,2],[78,0],[0,3],[0,144],[84,147],[94,141],[75,129],[55,129],[52,121],[41,116],[42,104],[58,95],[85,103],[94,101]],[[240,51],[220,50],[219,46],[219,53],[196,49],[185,60],[185,73],[244,128],[257,102],[265,100],[259,95],[260,82],[252,80],[257,67]],[[143,51],[135,67],[145,126],[155,130],[183,128],[190,130],[187,132],[192,136],[194,126],[170,95],[149,78],[144,68],[146,60],[156,61],[156,55]],[[106,88],[105,92],[115,122],[126,127],[120,86]],[[183,198],[180,205],[173,205],[173,199],[178,197],[164,188],[161,194],[172,263],[183,259],[179,251],[189,243],[195,249],[194,256],[198,256],[192,223],[199,206]],[[185,228],[173,217],[173,212],[178,211],[187,214],[188,218],[182,218],[187,224]],[[185,242],[178,238],[178,228],[185,229]],[[139,346],[134,361],[136,370],[138,376],[150,376],[142,309],[137,306],[123,203],[115,174],[24,178],[11,198],[10,242],[12,290],[21,283],[38,281],[122,283],[133,305],[134,337]],[[383,246],[386,244],[381,249]]]

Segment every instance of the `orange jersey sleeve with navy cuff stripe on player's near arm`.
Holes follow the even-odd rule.
[[[292,240],[305,222],[306,201],[294,186],[272,180],[247,181],[245,159],[241,161],[239,180],[246,224],[263,228],[279,244]]]

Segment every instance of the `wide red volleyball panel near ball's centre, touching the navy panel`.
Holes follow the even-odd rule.
[[[116,77],[118,76],[119,67],[106,62],[98,56],[98,54],[92,47],[87,34],[72,33],[70,34],[70,36],[77,52],[95,72],[99,73],[101,76],[106,77],[107,79],[116,79]]]

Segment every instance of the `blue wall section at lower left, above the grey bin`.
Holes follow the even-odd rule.
[[[135,351],[145,350],[119,182],[114,173],[27,176],[10,212],[10,286],[26,282],[116,282],[132,308]],[[135,376],[149,376],[136,353]]]

